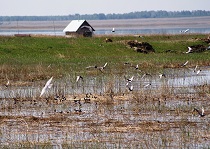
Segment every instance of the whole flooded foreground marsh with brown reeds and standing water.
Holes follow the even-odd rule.
[[[134,75],[133,91],[124,76],[86,76],[1,87],[0,144],[53,148],[209,148],[210,68],[165,69],[166,78]],[[131,74],[132,75],[132,74]],[[113,79],[114,78],[114,79]],[[144,87],[145,84],[150,86]],[[109,92],[111,88],[111,92]],[[112,93],[113,92],[113,93]],[[85,95],[91,93],[92,95]],[[54,99],[64,94],[66,100]],[[114,94],[112,96],[112,94]],[[52,97],[52,98],[49,98]]]

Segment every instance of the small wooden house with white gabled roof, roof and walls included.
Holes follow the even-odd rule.
[[[86,20],[72,20],[63,30],[69,37],[92,37],[93,27]]]

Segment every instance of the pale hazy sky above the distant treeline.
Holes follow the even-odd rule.
[[[0,0],[0,16],[210,10],[210,0]]]

